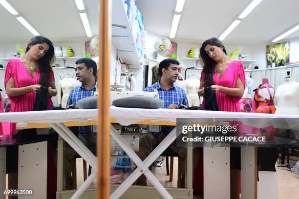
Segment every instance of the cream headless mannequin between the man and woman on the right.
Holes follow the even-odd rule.
[[[187,82],[187,99],[189,106],[200,106],[199,97],[197,91],[199,89],[200,80],[195,78],[190,78],[186,80]]]

